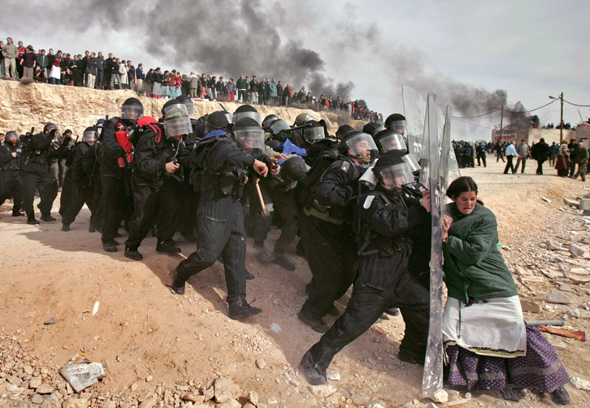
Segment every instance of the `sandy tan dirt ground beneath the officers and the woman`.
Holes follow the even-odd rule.
[[[585,183],[559,178],[547,166],[546,175],[537,176],[532,160],[527,174],[504,175],[502,162],[497,164],[495,156],[488,159],[487,168],[463,169],[462,174],[475,179],[480,198],[496,214],[500,241],[507,246],[503,255],[511,270],[520,271],[515,279],[523,275],[543,278],[542,282],[518,281],[523,298],[543,306],[540,313],[527,313],[527,319],[560,317],[590,301],[588,285],[568,281],[573,291],[566,293],[571,305],[550,310],[543,302],[550,290],[565,281],[555,272],[559,270],[556,256],[542,243],[547,239],[582,242],[588,250],[583,217],[563,204],[563,198],[589,193]],[[56,200],[56,217],[58,203]],[[247,268],[256,275],[248,282],[248,299],[263,312],[242,323],[227,317],[220,263],[192,277],[183,297],[173,295],[164,285],[171,282],[181,258],[157,253],[155,238],[143,242],[144,260],[136,262],[123,256],[123,230],[119,252],[102,250],[100,235],[88,232],[87,209],[70,232],[62,232],[59,221],[27,225],[24,217],[12,218],[10,210],[9,203],[0,208],[0,350],[6,356],[17,344],[50,372],[84,350],[90,360],[102,362],[107,370],[105,380],[89,389],[95,397],[91,406],[100,406],[107,396],[123,408],[132,407],[146,392],[157,393],[158,387],[159,395],[162,389],[206,389],[220,376],[232,379],[244,393],[256,391],[260,402],[270,406],[357,407],[382,401],[384,406],[395,407],[418,398],[422,369],[396,358],[404,328],[401,316],[381,320],[336,356],[329,369],[340,375],[340,380],[330,381],[336,393],[326,399],[312,393],[297,367],[320,335],[297,318],[311,275],[305,261],[294,255],[294,248],[288,256],[297,269],[287,272],[259,263],[248,240]],[[272,249],[277,235],[273,230],[267,249]],[[195,250],[192,243],[178,243],[184,255]],[[569,258],[567,247],[557,252],[564,262],[570,262],[566,267],[588,273],[588,258]],[[93,316],[96,302],[99,308]],[[340,304],[339,309],[344,306]],[[590,312],[580,311],[580,318],[566,324],[588,331]],[[52,317],[54,325],[43,324]],[[570,375],[590,379],[587,343],[547,336],[561,345],[558,353]],[[572,406],[590,406],[587,391],[567,387]],[[173,399],[174,395],[158,403],[182,406]],[[543,407],[552,403],[548,396],[537,393],[528,393],[520,403],[505,403],[499,392],[474,392],[473,399],[462,406],[506,405]]]

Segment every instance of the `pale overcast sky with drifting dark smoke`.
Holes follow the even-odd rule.
[[[403,113],[402,84],[424,95],[434,92],[441,103],[464,96],[469,107],[459,109],[457,104],[455,116],[486,112],[484,105],[475,103],[475,95],[489,97],[490,106],[499,107],[491,97],[496,90],[507,93],[509,105],[520,101],[526,109],[542,106],[551,101],[549,95],[560,92],[567,101],[590,105],[587,0],[4,3],[8,4],[0,13],[0,37],[22,39],[25,46],[32,44],[36,50],[113,52],[135,64],[143,62],[146,68],[161,66],[182,72],[209,68],[207,73],[226,78],[256,73],[259,79],[269,75],[281,79],[280,72],[270,72],[280,69],[291,77],[286,79],[293,80],[299,72],[297,64],[293,72],[284,61],[268,62],[269,72],[262,68],[252,72],[222,56],[237,54],[232,51],[235,48],[224,48],[230,41],[228,35],[235,37],[238,49],[252,50],[248,56],[254,54],[255,59],[248,60],[248,65],[296,58],[289,51],[294,47],[301,64],[313,65],[310,73],[322,74],[324,82],[333,79],[334,87],[352,81],[351,97],[366,100],[384,117]],[[239,10],[240,3],[247,3],[251,11],[247,17]],[[257,49],[257,44],[264,48]],[[276,54],[272,47],[277,47]],[[310,63],[310,56],[302,50],[318,55],[312,53],[315,59]],[[240,61],[244,59],[242,55]],[[300,82],[293,81],[294,89],[306,82],[309,85],[311,77]],[[564,120],[578,123],[578,109],[584,119],[590,117],[588,107],[566,103]],[[556,102],[534,113],[543,125],[557,123],[559,111]],[[499,114],[457,119],[453,136],[487,139],[499,121]]]

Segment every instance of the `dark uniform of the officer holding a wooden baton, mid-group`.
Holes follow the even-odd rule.
[[[191,166],[195,169],[193,184],[200,193],[197,251],[178,265],[172,286],[177,293],[184,293],[184,284],[192,275],[222,256],[231,307],[232,302],[245,302],[246,298],[246,233],[241,198],[248,168],[255,158],[221,130],[205,136],[195,153]]]

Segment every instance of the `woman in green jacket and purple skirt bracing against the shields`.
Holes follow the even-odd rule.
[[[536,387],[568,405],[563,364],[545,337],[524,322],[518,290],[497,249],[496,217],[477,200],[471,177],[451,183],[447,196],[453,200],[442,231],[449,385],[500,389],[510,400],[522,399],[523,388]]]

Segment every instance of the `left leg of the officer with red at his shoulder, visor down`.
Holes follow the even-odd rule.
[[[129,237],[125,241],[125,256],[141,259],[137,248],[154,225],[158,209],[158,191],[145,184],[134,184],[133,206],[135,211],[129,225]]]

